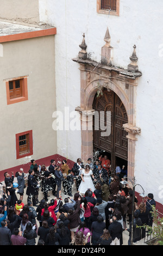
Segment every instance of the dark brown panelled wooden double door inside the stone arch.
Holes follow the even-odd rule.
[[[115,170],[116,164],[122,168],[122,164],[126,165],[128,160],[128,139],[126,138],[128,133],[123,129],[123,124],[128,123],[126,108],[117,94],[104,88],[103,94],[95,95],[93,109],[97,113],[93,118],[93,149],[94,151],[108,153],[111,160],[111,169]],[[100,118],[101,113],[102,118]],[[110,113],[110,119],[108,113]],[[108,123],[109,120],[111,122],[109,124],[110,133],[103,136],[103,127],[109,129],[106,126],[107,118]],[[97,120],[99,125],[97,125]]]

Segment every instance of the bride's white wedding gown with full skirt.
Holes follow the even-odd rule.
[[[88,188],[91,189],[91,191],[95,191],[95,186],[93,185],[93,181],[92,181],[92,178],[91,178],[91,175],[93,174],[92,170],[89,171],[89,173],[85,173],[85,170],[82,169],[82,172],[81,174],[83,174],[83,179],[84,181],[82,180],[81,183],[80,183],[80,186],[79,186],[79,193],[80,194],[85,194],[85,192],[88,190]]]

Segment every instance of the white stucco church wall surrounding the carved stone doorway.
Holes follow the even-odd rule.
[[[162,62],[163,2],[158,0],[120,0],[120,16],[98,14],[95,0],[40,0],[40,21],[57,27],[55,37],[55,75],[57,109],[70,111],[80,105],[79,44],[85,33],[87,53],[101,60],[106,28],[109,28],[114,64],[127,68],[136,45],[139,78],[136,96],[136,125],[141,135],[136,142],[135,176],[146,193],[162,203]],[[66,144],[68,143],[68,144]],[[59,131],[58,153],[76,161],[80,156],[80,132]],[[138,192],[141,188],[136,187]],[[162,188],[163,190],[163,188]]]

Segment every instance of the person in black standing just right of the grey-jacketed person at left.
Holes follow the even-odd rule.
[[[39,184],[34,178],[34,170],[29,170],[29,175],[28,175],[28,186],[27,186],[27,191],[26,194],[28,196],[27,202],[32,201],[33,206],[36,205],[36,194],[37,194],[37,188],[39,187]]]

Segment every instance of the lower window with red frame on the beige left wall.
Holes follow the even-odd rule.
[[[16,159],[33,155],[32,130],[16,134]]]

